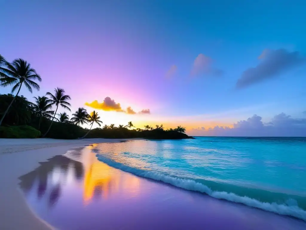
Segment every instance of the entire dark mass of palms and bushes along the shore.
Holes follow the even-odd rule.
[[[9,63],[0,55],[1,86],[13,86],[12,93],[17,90],[15,95],[0,94],[0,138],[189,138],[185,134],[186,129],[181,126],[165,130],[162,125],[156,125],[155,128],[146,125],[145,129],[141,129],[135,128],[132,121],[119,127],[111,124],[91,129],[94,123],[99,127],[103,123],[96,111],[88,114],[86,109],[78,108],[70,119],[66,112],[57,113],[59,106],[71,111],[68,102],[71,98],[62,88],[57,87],[54,93],[47,92],[45,96],[34,97],[34,103],[18,95],[22,86],[31,93],[32,87],[39,90],[35,80],[42,79],[27,61],[15,59]],[[90,128],[80,126],[84,124],[89,124]]]

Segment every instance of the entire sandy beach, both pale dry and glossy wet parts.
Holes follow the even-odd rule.
[[[96,157],[97,149],[116,154],[118,144],[147,141],[0,141],[1,229],[306,228],[303,220],[138,177]]]

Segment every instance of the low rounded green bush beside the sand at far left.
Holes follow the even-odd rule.
[[[0,138],[36,138],[41,132],[28,125],[0,126]]]

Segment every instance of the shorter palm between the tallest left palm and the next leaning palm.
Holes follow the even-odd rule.
[[[49,98],[47,98],[46,96],[38,96],[33,97],[35,99],[35,103],[33,103],[34,108],[37,112],[37,115],[39,116],[39,123],[38,123],[38,130],[40,128],[40,123],[41,123],[41,118],[42,117],[47,117],[47,118],[51,118],[54,114],[54,111],[48,110],[52,108],[52,105],[49,102]]]

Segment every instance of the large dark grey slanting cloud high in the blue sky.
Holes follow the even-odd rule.
[[[237,80],[237,89],[270,79],[306,63],[305,58],[300,56],[299,52],[288,52],[285,49],[265,49],[258,59],[261,62],[256,67],[245,70]]]

